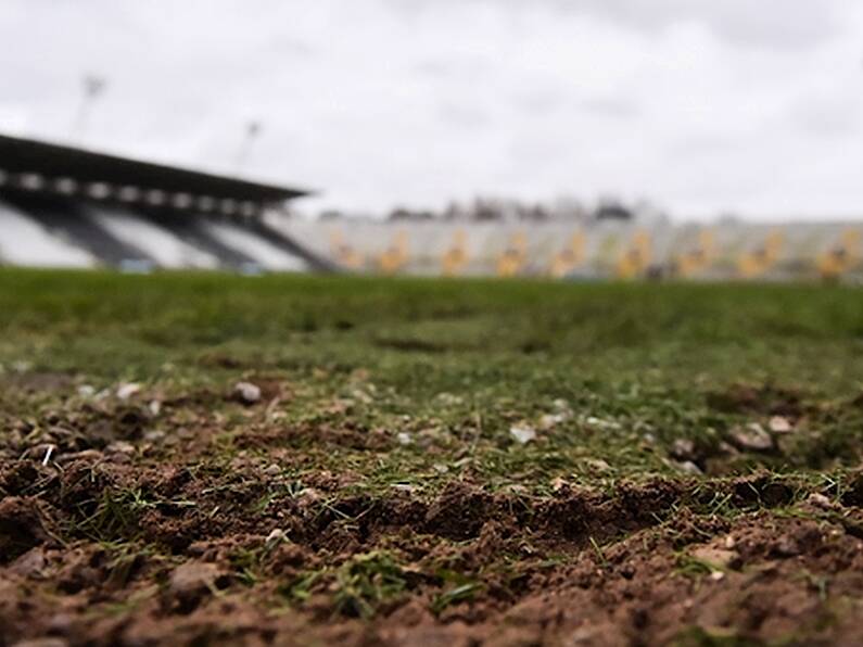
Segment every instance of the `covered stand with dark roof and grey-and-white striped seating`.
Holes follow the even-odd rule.
[[[262,217],[307,192],[0,136],[0,262],[328,271]]]

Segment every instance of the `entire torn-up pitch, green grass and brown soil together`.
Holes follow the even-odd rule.
[[[0,330],[16,638],[863,635],[858,289],[4,269]]]

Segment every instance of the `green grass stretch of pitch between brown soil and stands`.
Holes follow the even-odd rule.
[[[764,411],[708,405],[735,383],[791,390],[807,414],[776,452],[718,458],[723,473],[860,461],[863,293],[848,287],[3,269],[0,331],[9,375],[178,394],[266,376],[291,385],[279,424],[388,439],[370,449],[292,436],[297,482],[327,468],[366,489],[470,474],[542,491],[556,478],[678,473],[674,441],[710,458],[735,426],[766,424]],[[561,410],[535,442],[509,434]],[[226,405],[220,451],[244,433]]]

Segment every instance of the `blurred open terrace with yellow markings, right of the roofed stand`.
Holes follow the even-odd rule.
[[[272,219],[352,271],[691,279],[863,276],[863,224],[638,225]]]

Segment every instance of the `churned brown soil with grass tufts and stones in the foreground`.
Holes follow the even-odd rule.
[[[242,449],[219,462],[226,397],[164,401],[186,426],[158,447],[140,404],[8,430],[0,645],[863,644],[863,478],[357,494],[347,471],[300,486]],[[284,433],[243,442],[299,465]]]

